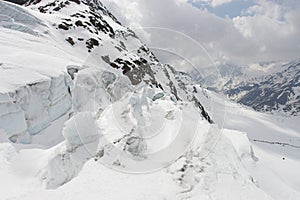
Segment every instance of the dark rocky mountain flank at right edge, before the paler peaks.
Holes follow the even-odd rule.
[[[281,70],[257,77],[225,91],[230,99],[262,112],[300,113],[300,61],[282,66]]]

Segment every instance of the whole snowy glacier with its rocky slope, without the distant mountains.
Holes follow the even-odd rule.
[[[298,62],[257,80],[287,117],[161,63],[98,0],[0,1],[0,47],[0,199],[300,198]],[[250,84],[226,92],[262,111]]]

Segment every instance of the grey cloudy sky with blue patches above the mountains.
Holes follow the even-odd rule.
[[[103,2],[163,62],[176,66],[247,65],[300,57],[298,0]]]

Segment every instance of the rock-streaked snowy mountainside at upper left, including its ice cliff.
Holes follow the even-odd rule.
[[[30,135],[71,107],[74,112],[84,110],[91,98],[82,92],[97,92],[100,99],[93,104],[105,107],[122,97],[126,84],[131,91],[148,84],[176,100],[194,101],[211,122],[192,92],[185,90],[189,80],[181,84],[180,73],[161,64],[101,2],[32,1],[27,8],[0,4],[0,123],[1,133],[11,141],[28,143]]]

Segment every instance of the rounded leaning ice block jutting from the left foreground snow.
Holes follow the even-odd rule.
[[[65,124],[63,136],[65,142],[56,147],[41,174],[48,189],[55,189],[78,175],[86,160],[96,152],[100,132],[92,113],[81,112]]]

